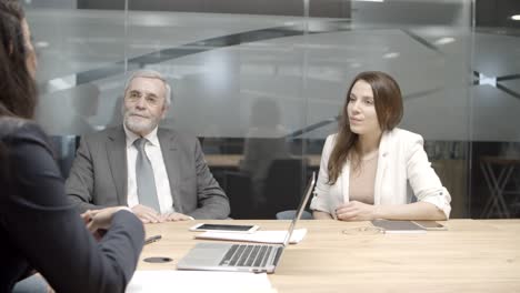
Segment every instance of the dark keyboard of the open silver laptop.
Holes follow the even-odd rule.
[[[264,266],[272,249],[272,245],[233,244],[219,265]]]

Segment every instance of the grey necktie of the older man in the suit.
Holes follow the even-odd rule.
[[[153,168],[147,153],[144,152],[144,144],[147,139],[140,138],[133,142],[138,150],[136,160],[136,181],[138,186],[139,203],[152,208],[160,212],[159,199],[157,198],[156,179],[153,178]]]

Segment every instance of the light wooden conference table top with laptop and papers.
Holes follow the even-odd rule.
[[[138,270],[174,270],[197,242],[188,229],[202,221],[146,225]],[[289,221],[228,220],[261,230],[286,230]],[[370,222],[299,221],[306,238],[282,254],[272,286],[286,292],[520,292],[520,220],[450,220],[448,231],[384,234]],[[169,263],[143,259],[167,256]]]

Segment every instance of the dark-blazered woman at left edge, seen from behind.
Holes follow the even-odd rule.
[[[0,292],[33,270],[58,292],[124,292],[142,223],[126,208],[81,218],[68,201],[47,135],[31,120],[36,64],[20,4],[0,0]],[[99,230],[107,232],[97,241]]]

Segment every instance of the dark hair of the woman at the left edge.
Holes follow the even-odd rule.
[[[0,0],[0,115],[32,119],[36,83],[27,68],[23,21],[18,1]]]

